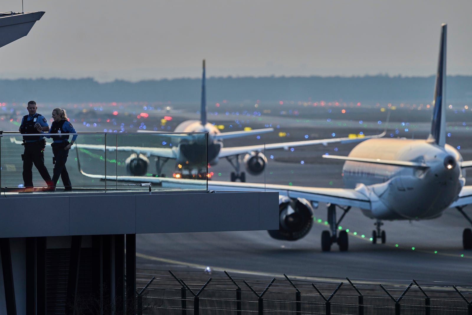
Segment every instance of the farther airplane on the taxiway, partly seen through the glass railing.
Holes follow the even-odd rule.
[[[262,153],[264,150],[278,149],[303,145],[327,145],[329,143],[350,143],[350,142],[361,142],[371,138],[379,138],[385,135],[385,132],[380,135],[373,136],[357,136],[357,137],[343,137],[343,138],[330,138],[330,139],[318,139],[318,140],[307,140],[307,141],[294,141],[294,142],[282,142],[273,144],[261,144],[261,145],[248,145],[248,146],[237,146],[237,147],[223,147],[223,139],[235,138],[241,136],[249,136],[255,134],[261,134],[273,131],[273,128],[254,129],[254,130],[243,130],[243,131],[232,131],[232,132],[220,132],[219,129],[207,122],[207,111],[206,111],[206,87],[205,87],[205,60],[203,60],[203,71],[202,71],[202,100],[200,110],[200,120],[186,120],[180,123],[174,130],[174,133],[164,133],[163,136],[176,137],[180,139],[177,145],[173,145],[169,148],[155,148],[155,147],[139,147],[139,146],[126,146],[126,147],[108,147],[110,151],[128,151],[131,155],[126,159],[126,170],[128,171],[129,177],[112,176],[107,179],[113,180],[137,180],[137,178],[143,178],[148,172],[149,157],[155,156],[156,161],[156,174],[157,178],[154,181],[162,182],[169,181],[169,179],[163,179],[165,176],[162,174],[162,167],[169,159],[176,160],[176,169],[173,177],[177,179],[186,178],[204,178],[206,179],[209,175],[207,174],[208,165],[216,165],[220,158],[226,158],[228,162],[233,166],[234,172],[231,172],[230,180],[236,181],[239,179],[241,182],[245,182],[245,172],[241,171],[241,162],[244,163],[245,169],[252,175],[261,174],[265,169],[267,158]],[[208,142],[205,137],[198,137],[191,133],[207,133]],[[186,136],[185,136],[186,135]],[[185,137],[183,137],[185,136]],[[185,141],[182,140],[185,138]],[[208,143],[208,145],[207,145]],[[103,145],[87,145],[77,143],[77,148],[83,149],[98,149],[104,150]],[[74,148],[74,146],[72,147]],[[204,152],[200,152],[203,150]],[[208,160],[208,164],[207,164]],[[205,163],[202,164],[202,161]],[[187,163],[188,162],[188,163]],[[81,170],[82,171],[82,170]],[[96,177],[104,179],[104,176],[86,174],[90,177]],[[132,178],[135,177],[135,178]],[[154,177],[156,178],[156,177]]]

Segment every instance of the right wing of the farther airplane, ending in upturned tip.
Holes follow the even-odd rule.
[[[349,142],[361,142],[372,138],[381,138],[385,136],[385,131],[379,135],[373,136],[357,136],[357,137],[344,137],[344,138],[330,138],[330,139],[318,139],[318,140],[307,140],[307,141],[293,141],[293,142],[279,142],[262,145],[246,145],[236,147],[223,147],[218,154],[218,157],[227,157],[243,153],[251,153],[252,151],[264,151],[271,149],[286,149],[294,146],[303,145],[328,145],[329,143],[349,143]]]

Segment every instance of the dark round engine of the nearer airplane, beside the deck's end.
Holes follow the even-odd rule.
[[[295,241],[312,229],[313,207],[308,200],[278,196],[278,209],[278,230],[268,230],[272,238]]]

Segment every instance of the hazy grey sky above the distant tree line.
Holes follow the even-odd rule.
[[[23,0],[45,11],[0,48],[0,78],[472,75],[471,0]],[[21,12],[2,0],[0,12]]]

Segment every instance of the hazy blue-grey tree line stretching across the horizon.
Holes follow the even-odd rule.
[[[210,77],[207,101],[429,102],[435,76]],[[199,78],[99,83],[83,79],[0,79],[0,102],[200,102]],[[447,100],[472,100],[472,76],[448,76]]]

